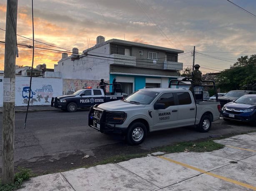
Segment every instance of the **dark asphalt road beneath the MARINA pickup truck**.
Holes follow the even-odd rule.
[[[0,121],[3,114],[0,114]],[[89,128],[88,110],[67,113],[62,110],[34,112],[28,114],[24,130],[25,113],[15,113],[15,163],[38,162],[45,160],[53,162],[71,154],[80,153],[95,156],[95,152],[110,151],[118,147],[122,149],[149,150],[173,142],[198,140],[221,135],[246,133],[256,130],[256,127],[243,124],[227,123],[218,120],[212,124],[207,133],[196,132],[193,128],[184,127],[149,133],[143,144],[127,145],[122,137],[111,137]],[[0,148],[2,149],[2,123],[0,124]],[[100,152],[99,152],[100,151]],[[106,154],[106,153],[105,153]],[[2,155],[2,152],[1,152]],[[0,156],[0,167],[2,157]]]

